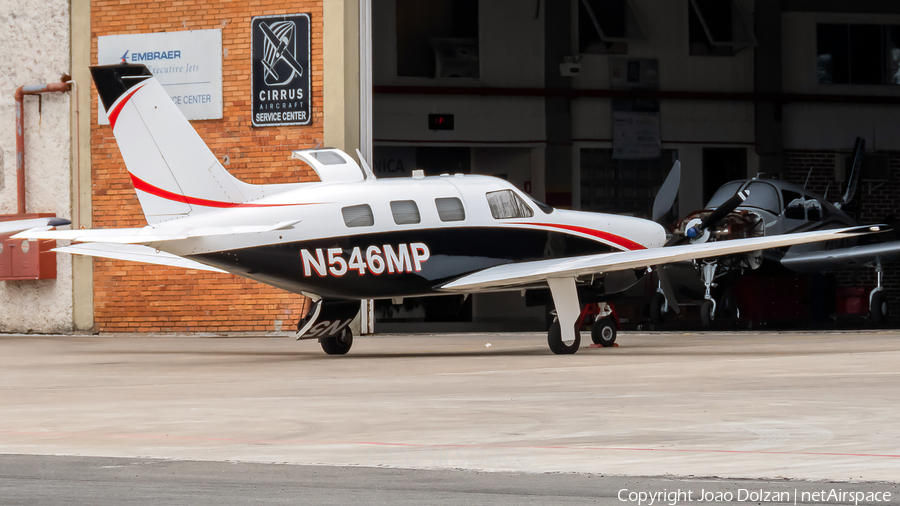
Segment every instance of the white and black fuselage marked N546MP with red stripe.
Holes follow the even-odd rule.
[[[517,205],[495,218],[489,195]],[[639,218],[539,206],[489,176],[305,183],[180,224],[292,222],[292,228],[179,241],[167,251],[295,293],[329,299],[436,295],[437,287],[496,265],[662,246],[665,231]],[[524,206],[524,207],[523,207]],[[510,210],[511,209],[511,210]],[[508,215],[508,216],[507,216]]]

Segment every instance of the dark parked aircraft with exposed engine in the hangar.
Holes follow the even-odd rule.
[[[842,208],[856,192],[864,150],[864,140],[857,139],[849,184],[839,202],[832,204],[821,195],[777,179],[731,181],[713,194],[706,207],[690,213],[678,223],[669,244],[721,243],[856,226],[856,220]],[[869,308],[871,320],[878,324],[888,314],[882,287],[883,262],[893,258],[900,258],[900,241],[860,245],[856,240],[841,240],[796,245],[782,251],[757,250],[702,259],[695,262],[705,290],[700,303],[700,319],[704,326],[710,326],[715,319],[721,300],[717,302],[713,296],[713,286],[725,279],[733,279],[730,274],[756,270],[764,261],[778,262],[797,272],[858,263],[871,265],[877,273],[877,286],[869,294]],[[654,323],[663,321],[667,311],[678,309],[674,291],[666,286],[666,275],[662,278],[650,303],[650,318]]]

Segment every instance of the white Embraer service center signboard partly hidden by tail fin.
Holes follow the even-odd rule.
[[[222,118],[222,30],[108,35],[97,38],[97,63],[142,63],[187,119]],[[107,124],[103,104],[97,120]]]

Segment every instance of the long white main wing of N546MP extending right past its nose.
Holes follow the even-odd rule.
[[[447,292],[461,293],[476,290],[513,289],[554,278],[573,278],[605,272],[641,269],[682,260],[710,258],[794,244],[843,239],[884,232],[886,230],[887,227],[884,226],[850,227],[637,251],[620,251],[572,258],[517,262],[498,265],[469,274],[441,286],[440,289]]]

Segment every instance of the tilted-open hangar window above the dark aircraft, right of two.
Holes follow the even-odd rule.
[[[756,45],[747,13],[734,0],[688,0],[689,53],[731,56]]]

